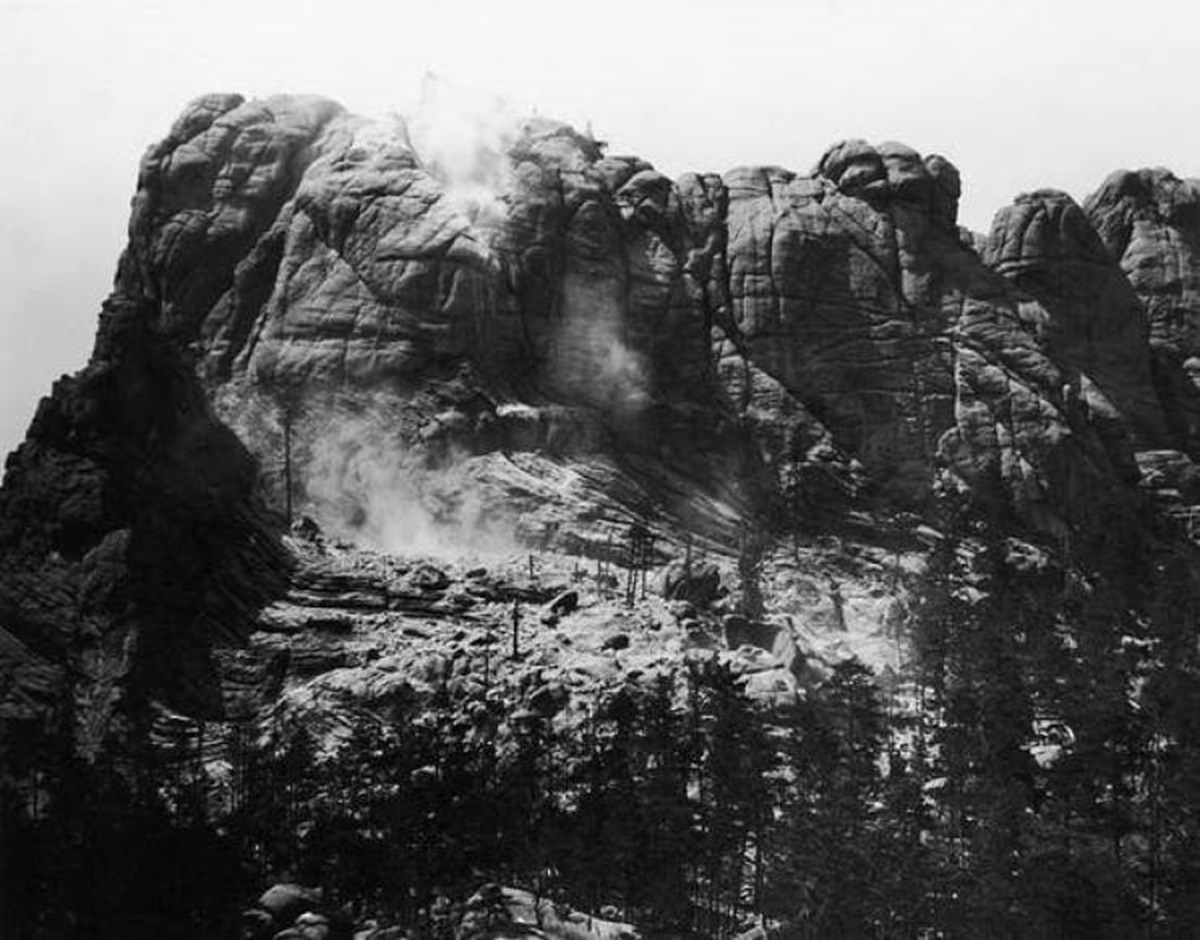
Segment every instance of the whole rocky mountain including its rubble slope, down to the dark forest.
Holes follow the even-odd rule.
[[[476,681],[514,604],[545,624],[514,703],[578,726],[689,651],[764,701],[850,657],[902,684],[938,591],[1079,631],[1194,603],[1200,182],[1024,194],[986,237],[960,185],[895,143],[671,180],[546,119],[463,158],[322,98],[193,102],[6,465],[10,740],[96,758],[280,702],[336,737]]]

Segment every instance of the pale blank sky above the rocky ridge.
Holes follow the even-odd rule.
[[[376,116],[428,71],[672,176],[902,140],[959,167],[982,230],[1032,188],[1200,175],[1195,0],[0,0],[0,455],[85,363],[138,158],[188,100]]]

